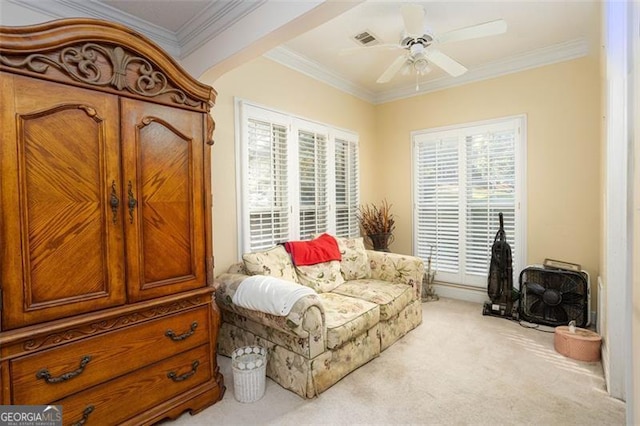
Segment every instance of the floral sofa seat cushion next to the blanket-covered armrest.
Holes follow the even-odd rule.
[[[322,293],[318,297],[324,306],[329,349],[355,339],[380,321],[380,308],[375,303],[336,293]]]

